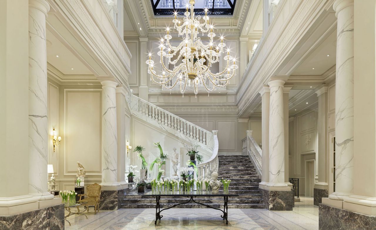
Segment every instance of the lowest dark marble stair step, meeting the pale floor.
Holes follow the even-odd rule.
[[[167,203],[167,204],[160,204],[160,208],[167,208],[171,207],[176,203]],[[211,204],[207,203],[207,205],[210,205],[212,207],[223,209],[223,204]],[[256,209],[263,209],[265,208],[265,205],[262,203],[257,204],[230,204],[228,203],[229,208],[235,208],[235,209],[249,209],[249,208],[256,208]],[[149,204],[121,204],[121,208],[152,208],[155,209],[155,203],[149,203]],[[174,208],[207,208],[206,206],[203,206],[202,204],[196,204],[196,203],[187,203],[187,204],[181,204]]]

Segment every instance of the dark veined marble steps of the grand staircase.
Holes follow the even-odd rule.
[[[260,179],[248,156],[241,155],[223,155],[218,156],[218,179],[230,179],[230,192],[239,194],[239,197],[230,197],[229,208],[264,208],[261,194],[258,191]],[[177,203],[182,203],[186,197],[162,197],[160,200],[161,208],[170,207]],[[195,200],[200,203],[208,204],[213,207],[223,208],[223,198],[196,197]],[[135,189],[129,189],[122,208],[155,208],[155,198],[142,197]],[[180,208],[202,208],[203,205],[196,203],[182,204]]]

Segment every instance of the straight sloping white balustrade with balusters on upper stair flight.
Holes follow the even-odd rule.
[[[213,134],[210,131],[184,120],[181,117],[159,108],[158,106],[153,105],[152,103],[135,95],[132,95],[131,103],[132,111],[136,111],[144,116],[148,116],[151,119],[158,121],[159,123],[162,123],[163,125],[167,125],[175,131],[193,138],[194,140],[208,146],[209,149],[212,149]]]

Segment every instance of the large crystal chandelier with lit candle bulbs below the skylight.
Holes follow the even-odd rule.
[[[220,37],[218,45],[213,41],[215,33],[213,33],[213,25],[209,23],[208,10],[205,9],[205,16],[201,20],[200,15],[194,14],[194,3],[194,0],[189,1],[183,21],[178,20],[177,13],[174,13],[175,17],[172,22],[179,37],[182,36],[180,44],[176,47],[170,44],[172,36],[168,27],[167,34],[161,38],[157,54],[160,56],[162,71],[159,74],[156,73],[151,53],[149,53],[149,60],[146,61],[148,73],[154,83],[168,90],[178,85],[183,97],[187,88],[193,88],[194,94],[197,95],[199,88],[210,93],[217,88],[226,87],[238,68],[235,58],[230,56],[230,50],[225,50],[226,44],[223,42],[223,36]],[[202,36],[208,33],[207,44],[204,44],[198,37],[200,32]],[[219,62],[221,54],[225,52],[226,67],[223,71],[212,73],[210,67],[213,63]],[[168,65],[173,65],[174,68],[172,70],[167,68],[164,60],[167,60]]]

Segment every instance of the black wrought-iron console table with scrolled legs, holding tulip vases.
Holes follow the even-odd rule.
[[[161,215],[161,212],[163,210],[173,208],[173,207],[178,206],[180,204],[187,204],[191,201],[193,201],[196,204],[202,204],[206,207],[210,207],[212,209],[220,210],[221,212],[223,212],[223,215],[221,215],[221,218],[226,220],[226,224],[229,224],[229,222],[227,221],[227,209],[228,209],[227,202],[229,200],[229,197],[236,197],[236,196],[238,196],[238,194],[233,194],[233,193],[229,193],[229,192],[212,193],[212,192],[206,192],[206,191],[203,191],[203,192],[196,192],[196,191],[195,192],[147,192],[146,194],[143,194],[143,196],[145,196],[145,197],[155,197],[156,207],[155,207],[154,224],[157,224],[157,220],[158,219],[160,220],[163,217]],[[190,199],[187,200],[184,203],[174,204],[171,207],[167,207],[167,208],[164,208],[164,209],[161,210],[160,205],[159,205],[159,200],[161,200],[161,197],[187,197],[187,198],[190,198]],[[207,205],[207,204],[197,202],[193,199],[194,197],[223,197],[223,210],[212,207],[212,206]]]

